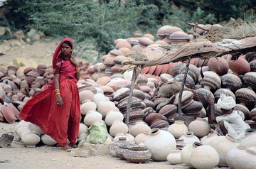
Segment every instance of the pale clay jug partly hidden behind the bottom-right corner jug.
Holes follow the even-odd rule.
[[[243,153],[246,149],[247,148],[244,146],[237,146],[228,151],[227,155],[225,156],[225,160],[230,169],[235,169],[235,158],[239,156],[240,153]]]

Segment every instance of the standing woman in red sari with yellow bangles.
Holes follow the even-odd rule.
[[[76,85],[80,72],[72,50],[73,41],[64,38],[53,55],[54,80],[26,102],[19,114],[21,119],[40,126],[57,141],[62,151],[77,147],[75,142],[80,123],[80,99]]]

